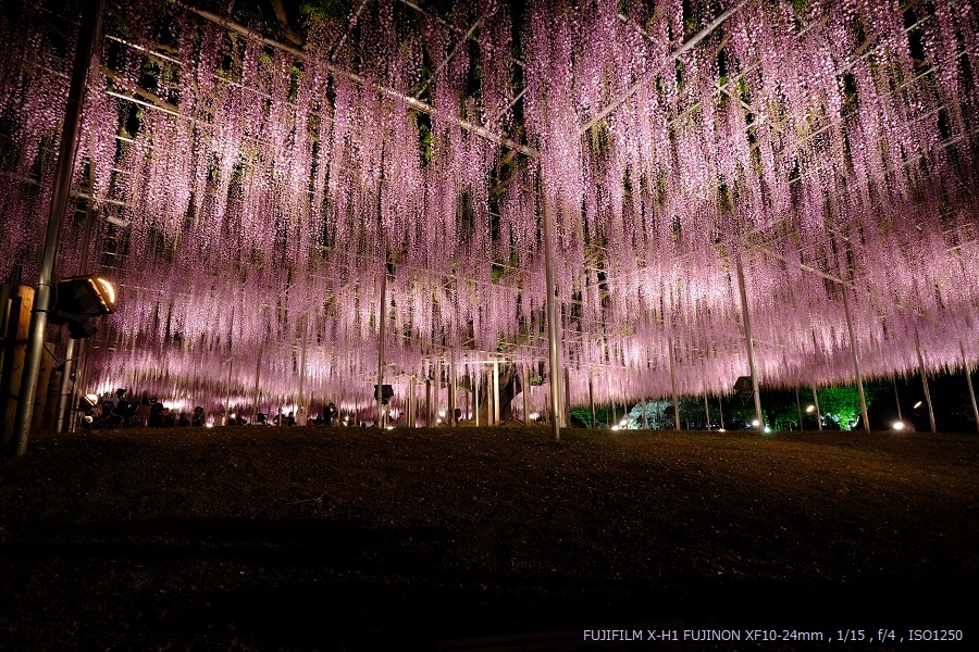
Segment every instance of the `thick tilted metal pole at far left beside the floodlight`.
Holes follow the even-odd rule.
[[[67,209],[72,190],[72,171],[75,153],[78,149],[78,133],[82,129],[82,103],[85,99],[85,87],[88,84],[88,70],[99,40],[102,21],[102,0],[88,0],[82,12],[82,26],[78,41],[75,43],[75,60],[72,65],[72,80],[69,87],[67,106],[64,123],[61,127],[61,146],[58,150],[58,163],[54,168],[51,210],[48,213],[48,227],[45,233],[45,247],[41,254],[40,271],[37,281],[37,293],[34,297],[34,309],[27,333],[27,346],[24,354],[24,367],[21,373],[21,389],[17,392],[17,410],[14,414],[11,442],[13,453],[17,456],[27,452],[27,439],[30,435],[30,422],[34,418],[34,401],[37,399],[37,375],[40,372],[41,358],[45,352],[45,335],[48,330],[48,313],[52,309],[54,258],[61,240],[61,222]]]

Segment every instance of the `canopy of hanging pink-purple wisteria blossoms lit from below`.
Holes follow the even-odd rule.
[[[545,208],[572,403],[669,394],[671,341],[681,393],[729,391],[736,260],[766,386],[852,381],[843,284],[866,375],[914,369],[916,333],[933,371],[977,358],[967,0],[369,0],[289,47],[109,4],[72,206],[119,292],[91,387],[244,403],[261,368],[289,402],[305,340],[307,397],[367,404],[385,269],[399,397],[536,366]],[[0,5],[0,280],[34,285],[79,9]]]

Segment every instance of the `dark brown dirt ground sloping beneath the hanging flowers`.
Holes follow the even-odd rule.
[[[979,649],[976,436],[548,437],[39,436],[0,461],[0,648]]]

